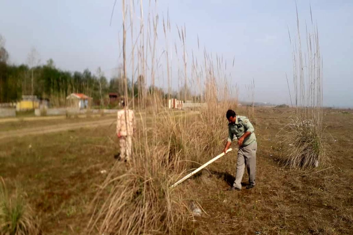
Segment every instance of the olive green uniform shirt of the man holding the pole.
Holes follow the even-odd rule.
[[[239,139],[247,131],[249,131],[251,134],[244,139],[243,146],[247,146],[256,141],[254,127],[252,126],[249,118],[245,116],[237,116],[237,120],[235,121],[235,123],[229,123],[228,131],[228,142],[233,141],[234,135]]]

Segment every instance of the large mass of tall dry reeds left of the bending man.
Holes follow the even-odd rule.
[[[153,8],[151,2],[149,4],[149,8]],[[179,47],[175,43],[173,57],[178,58],[172,61],[169,15],[167,22],[162,21],[162,27],[158,15],[151,10],[145,19],[142,1],[139,33],[136,36],[139,38],[139,46],[135,48],[127,45],[127,9],[128,6],[122,0],[124,69],[121,73],[127,81],[127,61],[137,58],[133,66],[137,66],[138,89],[139,94],[142,94],[141,97],[139,95],[138,111],[135,110],[138,128],[133,138],[133,157],[124,173],[121,173],[121,163],[116,162],[98,189],[92,204],[94,207],[88,232],[180,234],[189,224],[192,214],[187,206],[188,199],[184,197],[183,187],[171,189],[170,185],[187,171],[199,166],[199,163],[222,151],[227,137],[225,112],[232,107],[228,85],[231,78],[227,76],[226,60],[217,56],[214,61],[206,49],[198,51],[203,53],[202,63],[198,63],[196,57],[193,57],[192,63],[187,63],[185,25],[178,28],[183,53],[178,53]],[[130,14],[134,14],[134,11],[130,11]],[[130,16],[130,30],[133,30],[132,25],[136,25],[131,22],[135,18],[136,16]],[[160,29],[164,32],[166,48],[158,54],[160,50],[157,48],[157,32]],[[126,53],[126,48],[131,48],[130,56]],[[134,53],[137,56],[133,56]],[[163,53],[166,63],[160,61]],[[184,71],[178,73],[177,83],[184,90],[183,98],[189,99],[189,95],[200,96],[199,101],[207,103],[207,107],[202,110],[168,110],[165,107],[165,98],[154,89],[160,77],[159,68],[165,66],[168,98],[171,97],[172,85],[176,83],[172,79],[172,67],[179,67],[180,61],[183,61]],[[151,89],[147,89],[147,84],[151,85]],[[125,99],[128,103],[126,86],[127,82]],[[198,91],[194,89],[195,86]],[[147,103],[151,103],[151,106],[147,107]]]

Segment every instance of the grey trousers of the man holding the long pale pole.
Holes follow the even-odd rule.
[[[241,189],[241,180],[244,175],[244,167],[246,165],[247,173],[249,174],[249,184],[255,185],[256,174],[256,141],[245,147],[240,147],[238,150],[237,175],[233,186]]]

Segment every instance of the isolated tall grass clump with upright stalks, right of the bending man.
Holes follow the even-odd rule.
[[[311,9],[310,9],[311,10]],[[329,162],[322,141],[322,58],[317,26],[306,25],[306,52],[302,51],[297,11],[297,42],[293,46],[295,115],[289,123],[280,162],[290,168],[312,168]],[[291,39],[290,35],[289,38]],[[291,41],[292,43],[292,41]],[[292,102],[292,101],[291,101]]]

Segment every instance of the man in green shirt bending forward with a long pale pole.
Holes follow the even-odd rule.
[[[254,133],[254,127],[250,120],[244,116],[237,116],[233,110],[228,110],[226,117],[229,121],[228,131],[229,136],[224,152],[228,150],[229,146],[235,137],[238,139],[238,160],[237,160],[237,174],[230,191],[241,190],[241,179],[244,175],[244,166],[246,165],[247,173],[249,174],[249,185],[246,188],[253,188],[255,186],[256,174],[256,149],[257,142]]]

